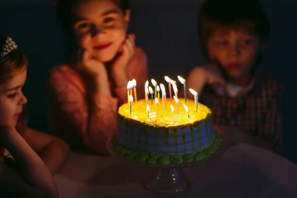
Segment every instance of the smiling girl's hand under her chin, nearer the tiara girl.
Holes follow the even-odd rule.
[[[92,53],[86,49],[79,49],[77,54],[77,69],[89,74],[94,79],[107,77],[105,65],[93,58]]]

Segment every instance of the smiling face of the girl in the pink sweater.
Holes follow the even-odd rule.
[[[112,60],[125,41],[130,10],[123,13],[112,0],[86,0],[72,12],[77,44],[101,62]]]

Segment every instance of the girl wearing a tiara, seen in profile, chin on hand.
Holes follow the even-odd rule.
[[[61,166],[68,147],[57,138],[23,125],[27,99],[21,89],[26,81],[27,58],[11,38],[0,37],[0,44],[0,194],[58,197],[51,172]]]

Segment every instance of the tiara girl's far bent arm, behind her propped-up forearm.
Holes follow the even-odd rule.
[[[68,145],[49,134],[26,128],[21,134],[28,145],[41,157],[50,173],[54,175],[69,156]]]

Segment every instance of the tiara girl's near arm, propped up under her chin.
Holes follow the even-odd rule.
[[[0,193],[7,197],[56,198],[58,190],[47,166],[19,133],[1,126],[0,141],[15,160],[16,170],[0,162]]]

